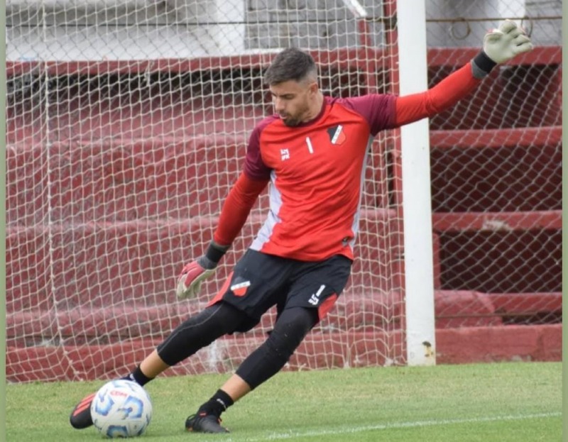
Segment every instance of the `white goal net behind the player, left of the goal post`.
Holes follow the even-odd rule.
[[[200,299],[178,302],[175,279],[271,113],[261,75],[279,48],[310,50],[329,94],[395,90],[395,41],[374,20],[386,6],[368,2],[361,21],[352,2],[280,4],[8,2],[10,380],[124,375],[216,293],[266,196]],[[291,368],[404,363],[393,140],[371,158],[351,283]],[[272,321],[172,372],[231,370]]]

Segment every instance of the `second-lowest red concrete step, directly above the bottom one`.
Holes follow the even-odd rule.
[[[6,315],[6,342],[10,346],[101,345],[129,339],[168,336],[187,317],[204,309],[211,297],[151,304],[148,299],[105,306],[70,307],[60,302],[51,309],[33,308]],[[334,309],[314,333],[335,331],[392,331],[403,326],[401,292],[356,292],[352,287],[339,297]],[[562,294],[486,294],[467,290],[435,292],[436,328],[557,324],[562,322]],[[251,333],[263,335],[273,327],[275,309],[263,316]]]

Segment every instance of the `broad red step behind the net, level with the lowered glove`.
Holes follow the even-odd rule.
[[[265,219],[255,209],[213,278],[202,286],[215,294],[236,258],[249,247]],[[400,287],[400,220],[395,211],[361,211],[359,259],[351,284],[391,291]],[[6,309],[54,304],[109,306],[144,297],[168,302],[183,265],[212,239],[217,217],[164,221],[56,223],[6,229]]]

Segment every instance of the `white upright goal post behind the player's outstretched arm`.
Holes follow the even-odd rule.
[[[425,1],[399,1],[400,95],[428,88]],[[408,365],[435,365],[434,272],[427,118],[400,128]]]

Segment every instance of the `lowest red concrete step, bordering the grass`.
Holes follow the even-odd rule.
[[[264,336],[218,340],[164,375],[232,372]],[[124,376],[158,341],[106,345],[6,348],[6,381],[106,380]],[[562,360],[562,324],[445,328],[436,331],[438,364]],[[405,361],[403,333],[395,331],[310,333],[284,370],[397,365]]]

